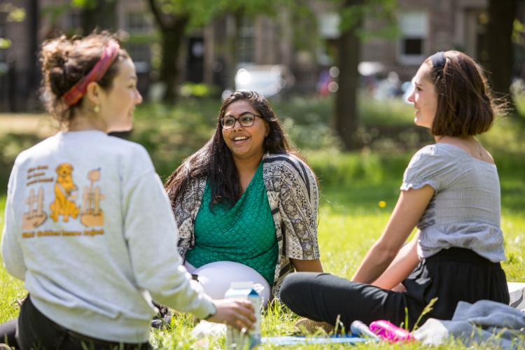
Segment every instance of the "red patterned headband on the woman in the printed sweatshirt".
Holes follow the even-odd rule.
[[[109,66],[113,63],[118,55],[120,45],[114,40],[109,41],[108,45],[102,52],[102,56],[98,62],[93,66],[91,71],[87,73],[82,79],[78,80],[75,85],[71,87],[65,94],[62,95],[62,100],[68,106],[76,104],[84,96],[87,90],[87,85],[92,81],[98,81],[102,79]]]

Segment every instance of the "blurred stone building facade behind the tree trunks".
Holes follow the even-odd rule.
[[[0,38],[10,41],[8,48],[0,45],[0,111],[32,109],[38,106],[34,81],[39,78],[34,76],[38,59],[30,38],[36,36],[40,43],[59,32],[79,33],[80,10],[66,0],[9,2],[25,9],[26,16],[21,22],[13,21],[8,8],[0,7]],[[381,16],[365,19],[363,27],[371,35],[362,43],[361,61],[380,62],[385,71],[409,80],[421,61],[438,50],[456,48],[483,60],[488,0],[398,2],[396,36],[374,35],[386,26]],[[339,15],[330,1],[306,3],[309,11],[283,9],[272,18],[228,14],[190,32],[178,62],[181,82],[232,88],[241,66],[282,64],[295,76],[297,92],[314,92],[321,71],[335,64]],[[139,88],[147,97],[154,90],[154,67],[160,55],[155,21],[144,0],[121,0],[117,6],[115,27],[123,34],[137,66]],[[39,13],[36,19],[30,15],[34,11]]]

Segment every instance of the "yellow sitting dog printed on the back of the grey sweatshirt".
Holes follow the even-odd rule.
[[[73,183],[73,165],[69,163],[60,164],[57,169],[57,181],[55,182],[55,200],[49,205],[51,209],[50,218],[57,222],[62,215],[64,222],[69,221],[69,216],[76,219],[80,208],[73,200],[77,196],[77,187]]]

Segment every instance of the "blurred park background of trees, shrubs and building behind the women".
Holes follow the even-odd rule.
[[[57,130],[38,99],[39,45],[104,29],[130,52],[145,100],[120,136],[144,144],[163,178],[210,137],[235,89],[270,99],[325,183],[344,180],[330,170],[342,159],[355,158],[343,177],[384,178],[367,162],[404,166],[433,141],[404,97],[423,59],[451,49],[509,104],[483,141],[522,170],[524,24],[525,0],[1,0],[1,192],[15,156]]]

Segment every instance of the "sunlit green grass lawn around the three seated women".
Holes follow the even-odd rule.
[[[388,221],[395,200],[405,159],[409,154],[398,155],[397,160],[390,158],[385,162],[378,155],[309,153],[309,162],[321,179],[321,208],[319,213],[318,237],[321,248],[321,261],[326,271],[338,276],[350,278],[368,248],[381,234]],[[369,157],[369,158],[366,158]],[[361,162],[356,162],[361,159]],[[329,160],[323,161],[323,160]],[[332,164],[333,163],[333,164]],[[337,167],[337,164],[339,167]],[[346,178],[344,177],[347,173]],[[395,175],[394,175],[394,172]],[[328,179],[332,173],[336,181]],[[391,178],[388,175],[392,174]],[[353,181],[351,181],[353,179]],[[335,183],[343,183],[336,188]],[[341,182],[344,181],[344,182]],[[508,260],[503,262],[503,269],[509,281],[525,281],[525,195],[521,179],[514,175],[503,174],[501,179],[503,192],[502,228],[505,232],[505,251]],[[3,225],[3,203],[0,226]],[[386,202],[386,207],[379,207],[379,201]],[[508,207],[505,206],[509,204]],[[25,295],[20,281],[16,281],[5,269],[0,268],[0,321],[6,321],[18,313],[15,300]],[[280,304],[275,304],[265,312],[262,321],[263,336],[289,335],[295,330],[293,323],[297,316],[286,311]],[[155,330],[152,342],[161,349],[190,349],[192,346],[204,346],[195,343],[189,334],[193,328],[193,319],[188,315],[174,318],[173,328]],[[223,346],[224,339],[208,339],[207,346]],[[374,344],[378,348],[393,348],[388,344]],[[271,346],[266,346],[267,348]],[[306,346],[307,349],[325,349],[325,346]],[[332,346],[340,348],[342,346]],[[360,345],[357,349],[367,349],[370,344]],[[461,348],[460,343],[451,341],[442,349]],[[416,349],[412,344],[408,349]]]

